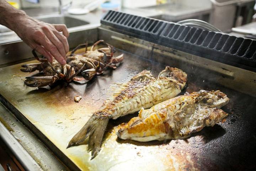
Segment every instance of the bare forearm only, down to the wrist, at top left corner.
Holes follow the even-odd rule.
[[[18,10],[11,6],[5,0],[0,0],[0,24],[4,25],[11,30],[14,30],[19,18],[26,16],[26,13],[22,10]]]

